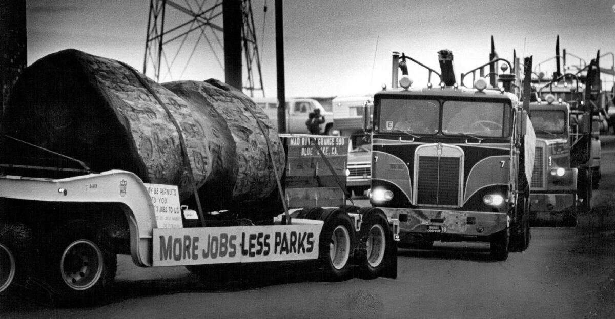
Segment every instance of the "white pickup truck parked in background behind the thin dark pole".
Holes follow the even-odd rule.
[[[271,124],[277,125],[277,98],[252,98],[252,100],[267,114]],[[292,98],[286,101],[286,132],[309,133],[306,127],[308,114],[315,109],[320,109],[320,114],[325,117],[325,123],[320,127],[324,135],[333,133],[333,112],[327,111],[319,101],[312,98]]]

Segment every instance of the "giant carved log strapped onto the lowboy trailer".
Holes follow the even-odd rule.
[[[81,160],[93,171],[127,170],[145,183],[177,185],[182,202],[194,199],[191,170],[207,210],[271,197],[276,180],[264,134],[274,142],[279,175],[284,150],[264,112],[219,81],[165,86],[170,90],[120,61],[63,50],[25,69],[0,133]],[[19,145],[4,148],[5,156],[32,152]]]

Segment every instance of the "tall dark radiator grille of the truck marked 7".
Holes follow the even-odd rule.
[[[418,205],[459,205],[459,157],[419,156]]]

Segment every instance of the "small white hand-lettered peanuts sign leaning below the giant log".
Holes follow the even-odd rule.
[[[145,184],[154,204],[158,228],[181,228],[180,193],[177,186]]]

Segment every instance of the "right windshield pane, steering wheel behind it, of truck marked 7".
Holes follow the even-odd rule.
[[[509,135],[509,108],[489,101],[445,101],[442,108],[442,133],[506,137]]]

